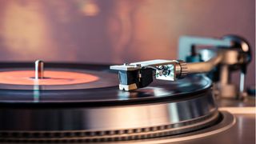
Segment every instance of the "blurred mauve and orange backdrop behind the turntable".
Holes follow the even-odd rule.
[[[254,0],[0,0],[0,61],[177,58],[178,38],[238,34],[255,54]],[[255,55],[247,85],[255,85]]]

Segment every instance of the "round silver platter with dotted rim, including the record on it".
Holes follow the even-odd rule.
[[[47,63],[38,83],[31,79],[33,64],[0,66],[0,142],[156,138],[206,128],[222,118],[211,81],[202,75],[122,91],[106,65]]]

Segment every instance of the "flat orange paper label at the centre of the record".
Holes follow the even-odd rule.
[[[2,71],[0,83],[10,85],[71,85],[97,81],[93,74],[45,70],[44,78],[35,79],[34,70]]]

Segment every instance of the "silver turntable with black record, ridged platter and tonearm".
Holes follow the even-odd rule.
[[[229,135],[236,118],[218,110],[216,91],[217,98],[237,92],[223,92],[230,88],[223,75],[242,70],[243,81],[250,47],[235,36],[195,40],[217,43],[216,55],[205,62],[152,60],[115,66],[2,62],[0,141],[203,143]],[[194,51],[194,39],[184,41]],[[218,82],[201,74],[216,67],[222,71]],[[242,85],[233,96],[246,97]]]

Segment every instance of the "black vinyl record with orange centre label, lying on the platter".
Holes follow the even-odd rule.
[[[8,67],[9,66],[9,67]],[[56,73],[56,74],[54,74]],[[48,74],[48,75],[47,75]],[[3,65],[0,69],[0,103],[81,103],[98,102],[113,105],[193,95],[210,88],[203,76],[192,76],[176,82],[155,80],[139,90],[118,90],[118,74],[109,66],[47,63],[46,78],[34,82],[33,66],[27,63]]]

